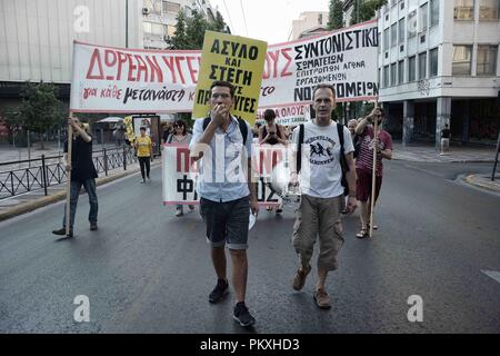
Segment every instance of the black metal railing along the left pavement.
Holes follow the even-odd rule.
[[[138,161],[133,149],[127,146],[93,151],[92,159],[97,172],[104,172],[106,176],[120,167],[127,170],[127,165]],[[4,167],[22,164],[29,164],[29,167],[4,170]],[[42,155],[38,159],[0,162],[0,199],[41,189],[47,196],[49,187],[63,184],[67,178],[62,156]]]

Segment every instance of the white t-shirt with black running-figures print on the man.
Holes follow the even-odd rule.
[[[299,144],[299,126],[293,129],[293,144]],[[297,147],[297,146],[296,146]],[[343,152],[352,152],[351,132],[343,127]],[[340,167],[340,140],[337,123],[318,126],[304,123],[300,188],[302,194],[318,198],[333,198],[343,194]]]

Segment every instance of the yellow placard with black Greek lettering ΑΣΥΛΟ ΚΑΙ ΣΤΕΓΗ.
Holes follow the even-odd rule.
[[[236,87],[231,113],[253,125],[268,43],[221,32],[204,32],[193,118],[210,111],[210,86],[226,80]]]

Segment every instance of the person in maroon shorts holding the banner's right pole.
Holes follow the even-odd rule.
[[[356,128],[361,140],[356,160],[356,191],[361,208],[361,230],[356,235],[358,238],[371,237],[372,230],[377,228],[372,224],[372,216],[382,186],[382,158],[392,159],[392,138],[380,128],[382,120],[383,110],[376,107]]]

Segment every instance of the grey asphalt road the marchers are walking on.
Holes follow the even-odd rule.
[[[344,219],[340,268],[331,273],[330,310],[312,299],[316,273],[291,288],[293,212],[261,210],[250,231],[247,303],[250,330],[232,320],[231,294],[208,303],[214,273],[198,214],[161,205],[161,171],[151,186],[134,175],[98,188],[99,230],[89,231],[80,197],[76,237],[57,240],[63,205],[0,222],[1,333],[500,333],[500,197],[463,186],[489,165],[394,161],[386,176],[372,239]],[[90,322],[77,323],[76,296]],[[410,296],[423,322],[410,323]]]

